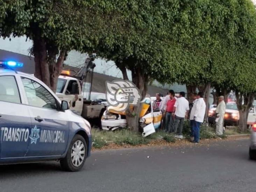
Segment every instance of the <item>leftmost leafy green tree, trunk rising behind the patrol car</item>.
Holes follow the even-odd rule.
[[[33,40],[31,54],[35,57],[35,76],[56,91],[67,53],[97,44],[104,32],[105,13],[111,10],[109,2],[0,1],[0,36],[26,36]]]

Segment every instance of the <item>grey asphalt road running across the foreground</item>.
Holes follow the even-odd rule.
[[[76,173],[58,162],[0,166],[0,192],[255,192],[248,143],[95,151]]]

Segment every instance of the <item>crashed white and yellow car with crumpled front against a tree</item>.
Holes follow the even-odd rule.
[[[141,103],[142,109],[140,112],[140,128],[142,129],[142,136],[148,136],[155,133],[155,130],[160,127],[162,121],[162,112],[156,102],[151,98],[145,98],[141,101]],[[107,109],[103,113],[101,118],[102,129],[115,130],[126,127],[127,121],[125,112]]]

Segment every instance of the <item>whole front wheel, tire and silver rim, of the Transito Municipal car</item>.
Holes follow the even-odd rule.
[[[84,137],[75,135],[69,145],[66,157],[61,159],[61,167],[65,171],[79,171],[87,156],[87,145]]]

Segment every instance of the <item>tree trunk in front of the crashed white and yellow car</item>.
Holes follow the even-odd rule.
[[[149,78],[146,74],[142,73],[139,67],[131,69],[131,74],[133,83],[139,89],[143,99],[147,93]],[[141,108],[142,105],[139,105],[134,107],[133,110],[128,109],[126,112],[127,125],[131,130],[136,132],[139,131],[139,119]]]

